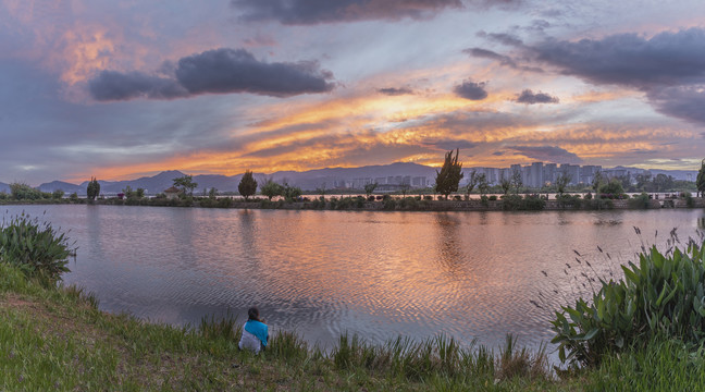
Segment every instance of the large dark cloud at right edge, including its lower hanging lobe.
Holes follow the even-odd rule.
[[[549,39],[527,48],[539,61],[594,84],[638,88],[670,117],[705,124],[705,29],[618,34],[603,39]]]

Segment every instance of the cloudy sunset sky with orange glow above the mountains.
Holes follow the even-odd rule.
[[[0,0],[0,181],[697,170],[702,0]]]

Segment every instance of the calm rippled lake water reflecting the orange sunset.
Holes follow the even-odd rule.
[[[529,301],[541,291],[558,306],[564,294],[573,295],[580,285],[564,272],[566,262],[571,273],[584,266],[573,249],[607,273],[632,260],[641,241],[663,245],[678,228],[684,242],[705,225],[703,210],[12,206],[2,213],[23,210],[71,230],[78,254],[64,280],[95,292],[104,310],[196,324],[203,315],[245,315],[257,305],[273,328],[323,346],[344,331],[372,342],[445,333],[488,345],[511,332],[537,345],[551,339],[551,315]],[[633,226],[641,228],[641,240]]]

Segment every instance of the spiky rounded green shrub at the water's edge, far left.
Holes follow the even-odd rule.
[[[0,226],[0,259],[20,267],[27,275],[57,281],[67,272],[69,256],[75,254],[74,244],[69,244],[48,223],[39,223],[22,213],[2,222]]]

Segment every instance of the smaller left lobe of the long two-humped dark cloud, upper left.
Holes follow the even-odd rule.
[[[88,82],[90,95],[100,101],[128,100],[138,97],[173,99],[188,95],[176,81],[149,76],[139,72],[102,71]]]

